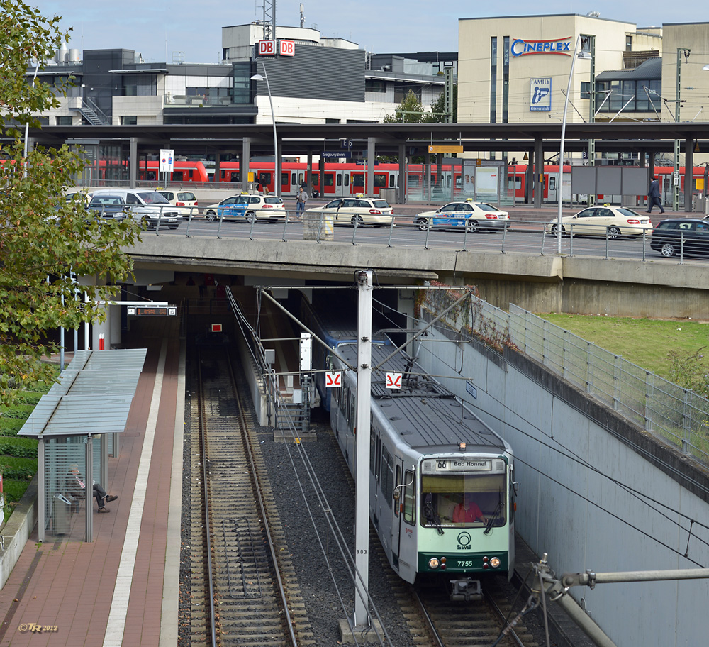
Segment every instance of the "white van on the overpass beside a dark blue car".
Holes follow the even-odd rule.
[[[147,229],[166,225],[177,229],[182,222],[179,209],[151,189],[96,189],[89,209],[103,218],[123,220],[130,216]]]

